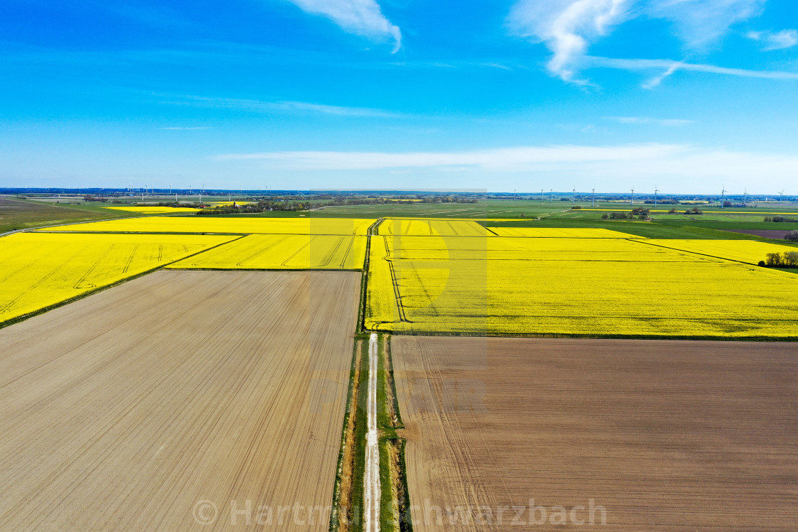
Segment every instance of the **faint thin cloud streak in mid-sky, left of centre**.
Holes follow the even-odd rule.
[[[242,98],[202,97],[192,95],[156,94],[167,103],[195,105],[197,107],[227,108],[247,112],[285,113],[285,114],[320,114],[334,116],[390,118],[400,116],[397,113],[364,107],[341,107],[338,105],[314,104],[306,101],[261,101]]]

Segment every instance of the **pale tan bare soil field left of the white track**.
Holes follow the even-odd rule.
[[[326,531],[359,288],[158,271],[0,330],[0,530]]]

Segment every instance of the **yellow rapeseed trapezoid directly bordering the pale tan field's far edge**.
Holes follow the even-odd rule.
[[[192,270],[362,270],[365,236],[252,234],[167,266]]]

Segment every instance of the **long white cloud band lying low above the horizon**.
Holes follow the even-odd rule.
[[[214,156],[217,161],[252,161],[285,171],[391,171],[478,172],[496,175],[540,172],[542,176],[617,183],[618,179],[640,182],[667,181],[671,187],[695,190],[706,179],[737,186],[738,183],[773,183],[794,179],[798,157],[725,148],[701,148],[685,144],[632,144],[620,146],[526,146],[470,152],[263,152]],[[484,178],[483,178],[484,179]],[[528,178],[525,178],[528,179]],[[548,179],[548,178],[547,178]]]

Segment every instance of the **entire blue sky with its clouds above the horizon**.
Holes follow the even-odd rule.
[[[6,0],[0,186],[798,194],[794,0]]]

